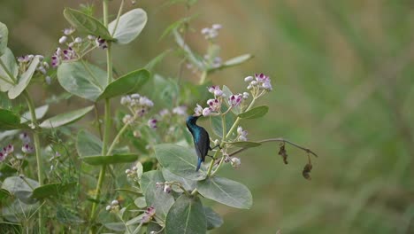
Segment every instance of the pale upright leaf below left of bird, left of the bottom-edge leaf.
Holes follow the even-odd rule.
[[[158,182],[165,182],[161,171],[157,171],[150,177],[145,190],[145,200],[149,206],[156,208],[156,214],[164,220],[168,214],[168,210],[173,206],[174,198],[171,193],[164,192],[163,186],[157,186],[156,184]]]

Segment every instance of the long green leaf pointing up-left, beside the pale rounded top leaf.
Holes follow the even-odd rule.
[[[96,20],[90,15],[70,8],[65,8],[64,16],[65,19],[80,32],[101,36],[106,40],[113,40],[106,27],[104,27],[99,20]]]

